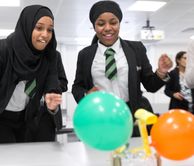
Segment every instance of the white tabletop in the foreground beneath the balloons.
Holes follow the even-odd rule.
[[[140,146],[139,138],[130,143]],[[0,166],[111,166],[110,152],[98,151],[81,142],[21,143],[0,145]],[[130,166],[123,164],[123,166]],[[144,165],[145,166],[145,165]],[[185,161],[162,158],[162,166],[194,166],[194,157]]]

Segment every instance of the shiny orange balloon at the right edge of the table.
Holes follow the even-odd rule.
[[[152,146],[163,157],[183,160],[194,155],[194,115],[181,109],[162,114],[151,129]]]

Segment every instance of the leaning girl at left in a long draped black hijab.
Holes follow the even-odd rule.
[[[44,95],[50,111],[61,103],[54,17],[45,6],[23,9],[15,31],[0,40],[0,142],[23,142]]]

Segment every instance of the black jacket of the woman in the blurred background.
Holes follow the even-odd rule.
[[[188,110],[188,101],[187,100],[177,100],[176,98],[173,97],[173,94],[175,92],[180,92],[180,84],[179,84],[179,69],[175,68],[173,69],[170,73],[170,80],[166,84],[166,87],[164,89],[164,93],[170,97],[170,104],[169,104],[169,109],[173,108],[181,108]],[[192,99],[194,99],[194,89],[191,89],[192,92]]]

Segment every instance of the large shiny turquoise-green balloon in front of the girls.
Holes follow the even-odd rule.
[[[85,96],[77,105],[73,125],[85,144],[98,150],[115,150],[129,141],[133,120],[122,99],[98,91]]]

